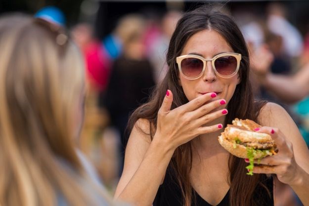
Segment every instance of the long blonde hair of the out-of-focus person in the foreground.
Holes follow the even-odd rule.
[[[59,194],[72,206],[95,205],[74,149],[84,63],[71,41],[59,45],[55,38],[32,17],[0,19],[2,206],[54,206]]]

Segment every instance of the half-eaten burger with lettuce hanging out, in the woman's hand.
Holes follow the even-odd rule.
[[[252,120],[236,118],[232,124],[227,124],[218,137],[221,146],[232,155],[249,159],[250,165],[246,168],[252,175],[254,160],[261,160],[266,156],[275,155],[277,146],[269,134],[256,132],[254,128],[261,127]]]

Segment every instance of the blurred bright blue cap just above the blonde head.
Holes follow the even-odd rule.
[[[43,18],[54,24],[65,26],[65,17],[63,12],[55,6],[46,6],[40,9],[35,15],[37,18]]]

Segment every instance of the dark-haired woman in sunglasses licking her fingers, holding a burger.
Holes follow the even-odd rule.
[[[185,13],[167,63],[153,98],[132,114],[115,198],[137,206],[269,206],[272,178],[265,174],[274,173],[308,206],[309,151],[281,107],[254,102],[248,49],[235,22],[207,7]],[[217,140],[234,118],[267,125],[257,130],[279,148],[253,176]]]

